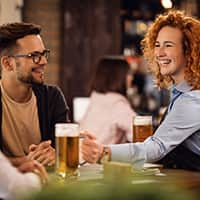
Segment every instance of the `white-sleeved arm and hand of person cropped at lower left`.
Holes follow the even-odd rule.
[[[18,168],[0,151],[0,199],[16,199],[32,191],[40,190],[47,180],[45,168],[37,161],[23,163]]]

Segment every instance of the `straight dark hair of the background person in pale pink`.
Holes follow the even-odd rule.
[[[100,93],[118,92],[125,95],[128,71],[129,64],[124,58],[118,56],[103,57],[97,65],[91,90]]]

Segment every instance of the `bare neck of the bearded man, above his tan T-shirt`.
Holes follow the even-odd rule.
[[[25,84],[16,84],[6,79],[1,80],[2,87],[6,94],[18,103],[24,103],[31,99],[32,87]]]

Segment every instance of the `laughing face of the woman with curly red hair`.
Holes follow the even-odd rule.
[[[159,31],[154,54],[162,75],[171,76],[175,83],[184,80],[186,59],[183,52],[182,33],[178,28],[165,26]]]

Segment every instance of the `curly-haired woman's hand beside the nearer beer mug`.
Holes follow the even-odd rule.
[[[83,159],[89,163],[96,163],[102,155],[103,145],[98,144],[90,133],[82,133],[81,136],[85,137],[81,146]]]

